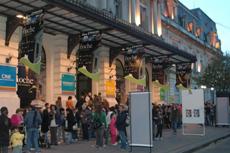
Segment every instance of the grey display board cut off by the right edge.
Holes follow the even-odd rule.
[[[230,125],[229,98],[217,97],[216,103],[216,124]]]

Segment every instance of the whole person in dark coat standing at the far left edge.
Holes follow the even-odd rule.
[[[1,108],[0,115],[0,152],[8,153],[9,146],[10,119],[8,118],[8,109]]]

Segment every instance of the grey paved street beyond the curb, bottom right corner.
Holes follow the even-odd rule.
[[[229,153],[230,152],[230,138],[212,144],[203,150],[195,153]]]

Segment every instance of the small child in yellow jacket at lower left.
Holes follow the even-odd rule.
[[[19,132],[19,129],[15,128],[10,138],[10,144],[12,145],[13,148],[12,153],[22,153],[23,139],[24,139],[24,134],[21,134]]]

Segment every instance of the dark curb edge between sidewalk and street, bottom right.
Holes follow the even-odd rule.
[[[216,142],[218,142],[218,141],[220,141],[220,140],[223,140],[223,139],[226,139],[226,138],[228,138],[228,137],[230,137],[230,133],[227,134],[227,135],[225,135],[225,136],[216,138],[216,139],[214,139],[214,140],[210,140],[209,142],[206,142],[206,143],[204,143],[204,144],[201,144],[201,145],[199,145],[199,146],[197,146],[197,147],[194,147],[194,148],[192,148],[192,149],[190,149],[190,150],[187,150],[187,151],[184,151],[184,152],[182,152],[182,153],[193,153],[193,152],[195,152],[195,151],[198,151],[198,150],[203,149],[204,147],[209,146],[209,145],[212,144],[212,143],[216,143]]]

